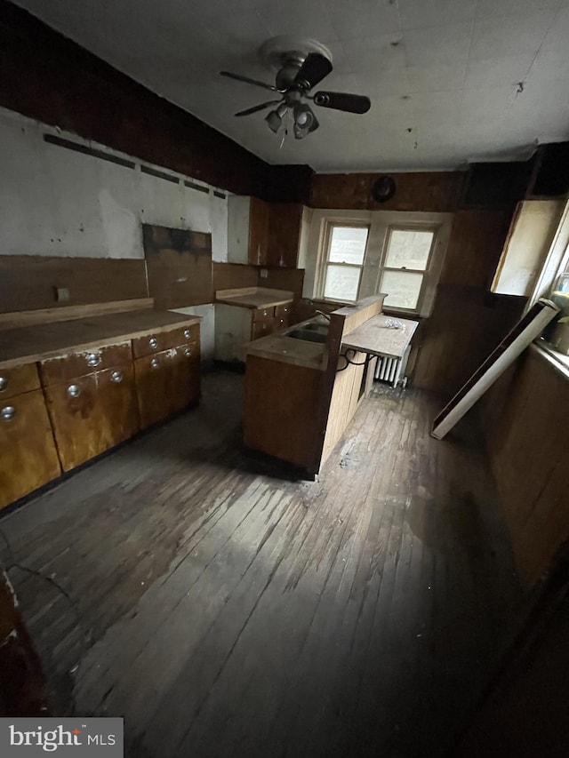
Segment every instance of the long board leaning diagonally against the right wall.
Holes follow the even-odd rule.
[[[539,299],[520,319],[516,326],[501,340],[498,347],[486,358],[466,384],[454,395],[450,403],[438,414],[431,436],[443,437],[472,408],[488,387],[506,371],[510,363],[523,353],[533,339],[539,337],[548,323],[559,313],[559,308],[550,300]]]

